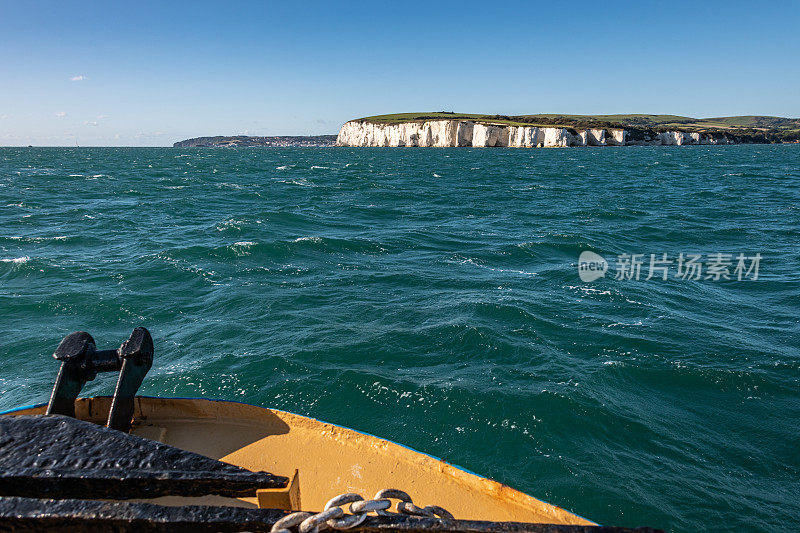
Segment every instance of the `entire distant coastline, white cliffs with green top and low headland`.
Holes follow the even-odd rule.
[[[800,142],[800,119],[679,115],[479,115],[448,111],[355,119],[338,135],[195,137],[176,148],[683,146]]]

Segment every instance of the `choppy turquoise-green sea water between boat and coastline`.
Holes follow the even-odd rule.
[[[0,408],[46,401],[65,334],[144,325],[144,394],[311,415],[604,524],[791,529],[799,189],[800,146],[0,149]],[[762,259],[645,280],[651,253]]]

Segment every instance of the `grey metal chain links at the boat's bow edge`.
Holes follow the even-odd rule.
[[[392,513],[391,500],[397,502],[398,513]],[[342,506],[350,504],[350,514],[345,515]],[[350,529],[361,525],[367,519],[367,513],[376,512],[381,516],[391,516],[394,514],[406,514],[411,516],[422,516],[426,518],[453,518],[453,515],[442,509],[438,505],[428,505],[418,507],[414,505],[408,493],[398,489],[383,489],[375,494],[371,500],[365,500],[354,492],[340,494],[328,500],[322,512],[317,514],[296,512],[291,513],[272,526],[271,533],[293,533],[292,528],[296,527],[298,533],[319,533],[320,531],[333,529]]]

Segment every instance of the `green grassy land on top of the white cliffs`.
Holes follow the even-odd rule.
[[[769,116],[738,116],[693,118],[680,115],[481,115],[475,113],[451,113],[445,111],[422,113],[395,113],[364,117],[361,121],[376,124],[401,124],[425,120],[472,120],[475,122],[508,124],[512,126],[567,126],[567,127],[675,127],[682,130],[706,129],[759,129],[759,130],[800,130],[800,119]]]

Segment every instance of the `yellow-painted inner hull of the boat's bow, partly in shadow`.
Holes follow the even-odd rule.
[[[76,416],[102,424],[110,404],[105,397],[79,399]],[[13,414],[44,410],[38,406]],[[398,488],[414,503],[439,505],[459,519],[593,524],[404,446],[284,411],[227,401],[142,397],[137,398],[134,421],[136,435],[249,470],[287,477],[297,470],[303,510],[321,510],[328,499],[344,492],[370,498],[380,489]],[[256,499],[237,503],[255,505]]]

